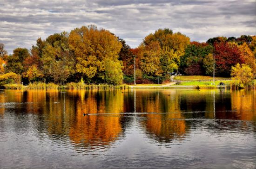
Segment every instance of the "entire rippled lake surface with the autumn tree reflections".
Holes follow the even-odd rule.
[[[256,90],[2,92],[1,169],[256,168]]]

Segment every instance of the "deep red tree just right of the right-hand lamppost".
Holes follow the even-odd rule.
[[[244,63],[243,55],[235,44],[222,42],[214,44],[214,47],[216,75],[230,76],[232,66]]]

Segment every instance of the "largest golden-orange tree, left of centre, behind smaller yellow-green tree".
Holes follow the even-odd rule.
[[[76,71],[89,79],[105,79],[105,59],[119,62],[118,54],[122,44],[118,38],[107,30],[97,29],[94,25],[71,31],[68,43],[75,54]]]

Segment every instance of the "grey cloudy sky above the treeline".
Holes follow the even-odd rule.
[[[159,28],[193,41],[256,35],[256,0],[0,0],[0,43],[8,53],[38,37],[95,24],[132,48]]]

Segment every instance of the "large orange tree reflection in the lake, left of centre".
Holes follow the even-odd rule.
[[[69,137],[75,144],[92,146],[108,145],[122,132],[121,110],[123,94],[114,91],[82,90],[77,94],[75,121]],[[89,113],[89,115],[83,115]],[[115,114],[106,114],[115,113]]]

